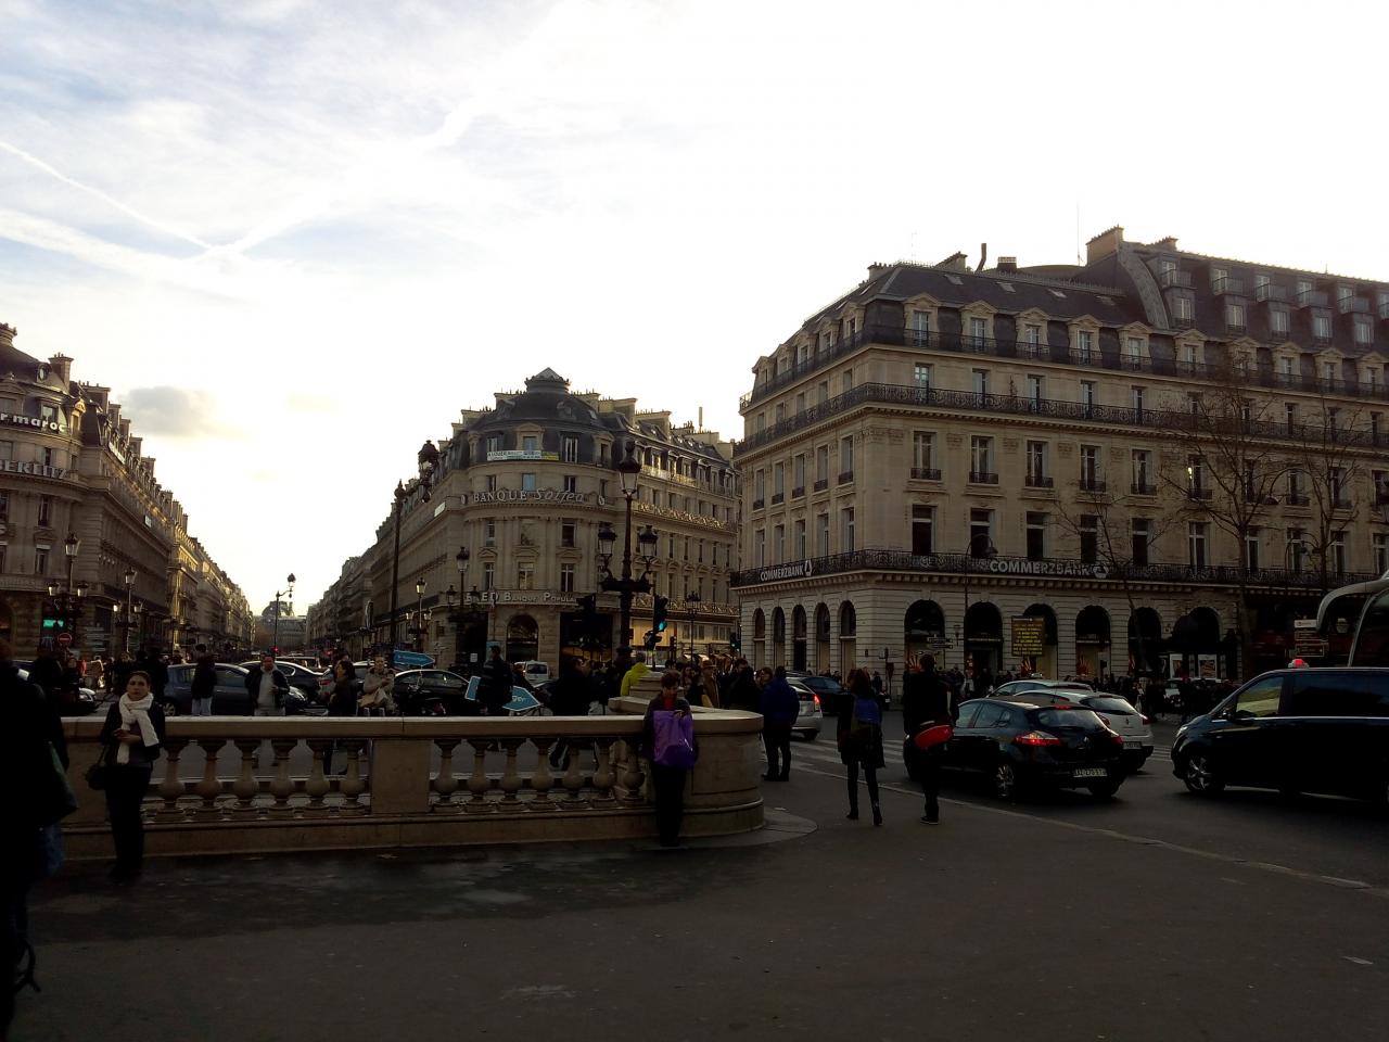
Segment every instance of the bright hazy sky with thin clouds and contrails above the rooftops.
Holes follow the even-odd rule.
[[[1382,4],[0,0],[0,321],[253,610],[544,367],[742,433],[875,261],[1389,279]]]

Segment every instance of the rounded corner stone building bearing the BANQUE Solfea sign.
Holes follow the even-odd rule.
[[[528,379],[522,392],[497,393],[492,408],[463,411],[439,445],[428,502],[418,479],[404,489],[397,642],[458,665],[481,661],[489,642],[511,661],[556,665],[561,652],[579,650],[611,656],[621,643],[618,596],[599,589],[597,535],[603,525],[618,534],[611,567],[619,572],[626,500],[617,464],[628,443],[642,464],[633,531],[650,525],[657,532],[653,593],[633,604],[635,639],[640,643],[651,628],[660,595],[669,599],[664,647],[726,649],[736,627],[731,443],[693,424],[672,425],[668,413],[639,410],[633,399],[571,393],[551,370]],[[360,625],[379,643],[390,636],[394,524],[393,511],[363,554],[360,579],[344,570],[333,593],[351,604],[350,590],[361,590]],[[640,561],[633,567],[642,574]],[[597,597],[590,622],[578,606],[589,593]],[[349,609],[347,622],[351,615]],[[335,636],[350,639],[347,628],[339,622]]]

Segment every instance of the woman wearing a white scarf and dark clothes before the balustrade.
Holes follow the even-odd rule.
[[[111,818],[111,838],[115,841],[111,878],[129,882],[140,874],[144,861],[140,804],[164,745],[164,710],[154,702],[150,675],[144,670],[135,670],[125,681],[125,692],[106,713],[100,741],[104,763],[110,767],[106,807]]]

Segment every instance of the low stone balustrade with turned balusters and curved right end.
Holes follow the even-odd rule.
[[[633,754],[644,709],[632,697],[597,717],[171,717],[144,802],[146,850],[654,836],[647,764]],[[85,778],[101,720],[64,725],[79,802],[64,822],[68,856],[108,857],[106,802]],[[685,835],[763,825],[760,727],[751,713],[697,710]],[[561,741],[571,754],[553,770],[549,753]]]

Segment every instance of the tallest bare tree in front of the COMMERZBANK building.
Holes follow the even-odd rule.
[[[1231,574],[1239,606],[1240,661],[1247,664],[1253,660],[1249,589],[1254,571],[1249,546],[1279,503],[1288,458],[1286,446],[1274,436],[1276,403],[1250,390],[1247,371],[1235,361],[1211,367],[1185,399],[1167,403],[1158,418],[1167,465],[1158,475],[1185,499],[1183,520],[1208,522],[1235,545]],[[1210,567],[1211,547],[1206,547],[1204,561],[1193,554],[1190,563]]]

